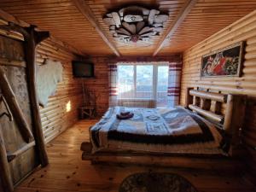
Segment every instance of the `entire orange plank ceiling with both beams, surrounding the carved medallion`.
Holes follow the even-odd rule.
[[[84,5],[78,7],[79,4]],[[137,43],[127,46],[115,42],[108,32],[108,26],[103,23],[102,16],[110,9],[131,4],[169,12],[169,20],[163,32],[152,39],[152,44]],[[49,31],[55,38],[87,55],[168,55],[189,49],[247,15],[256,9],[256,1],[1,0],[0,8],[41,30]],[[185,8],[188,8],[187,12]],[[89,17],[88,10],[91,13]],[[181,16],[183,20],[180,19]],[[170,37],[165,41],[167,34]],[[116,50],[115,53],[113,50]]]

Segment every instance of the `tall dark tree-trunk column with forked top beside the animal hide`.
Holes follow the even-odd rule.
[[[26,58],[26,76],[29,97],[32,110],[32,125],[36,147],[40,157],[41,166],[49,164],[48,156],[44,145],[44,134],[39,112],[38,93],[36,90],[36,48],[37,45],[45,38],[49,38],[49,32],[37,32],[36,26],[26,27],[25,38],[25,58]]]

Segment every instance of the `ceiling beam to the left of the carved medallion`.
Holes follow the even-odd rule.
[[[106,44],[108,44],[108,47],[113,50],[113,53],[117,56],[120,56],[119,50],[115,47],[115,45],[111,41],[109,41],[108,36],[102,30],[102,27],[100,26],[99,22],[96,20],[96,17],[92,13],[89,5],[87,5],[84,0],[73,0],[73,3],[75,3],[75,5],[79,9],[80,13],[82,15],[84,15],[84,17],[87,20],[90,21],[90,24],[96,29],[96,32],[99,33],[99,35],[102,37],[103,41]]]

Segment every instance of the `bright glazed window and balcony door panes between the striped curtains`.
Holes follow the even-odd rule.
[[[167,65],[119,65],[119,99],[154,99],[157,107],[167,105]]]

